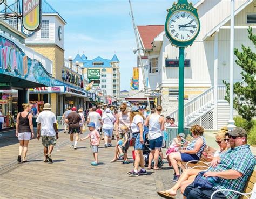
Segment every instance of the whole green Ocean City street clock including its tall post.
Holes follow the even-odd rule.
[[[184,130],[184,50],[191,46],[200,31],[197,9],[187,0],[173,3],[167,9],[165,34],[173,46],[179,47],[179,116],[178,131]]]

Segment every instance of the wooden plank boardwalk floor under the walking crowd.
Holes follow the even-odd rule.
[[[171,186],[172,170],[129,176],[126,172],[132,164],[110,163],[114,147],[100,147],[100,164],[91,166],[89,140],[79,142],[78,150],[73,150],[68,134],[59,133],[59,137],[53,164],[43,162],[41,140],[30,141],[29,162],[18,164],[17,138],[0,137],[1,198],[158,198],[157,190]],[[131,150],[129,155],[132,157]]]

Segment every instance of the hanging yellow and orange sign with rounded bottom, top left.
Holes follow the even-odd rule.
[[[22,0],[22,23],[28,31],[38,31],[42,24],[42,0]]]

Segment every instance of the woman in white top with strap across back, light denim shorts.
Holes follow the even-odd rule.
[[[110,109],[107,108],[106,113],[102,116],[102,131],[104,133],[105,147],[112,146],[111,141],[114,122],[116,122],[116,118],[112,115]]]

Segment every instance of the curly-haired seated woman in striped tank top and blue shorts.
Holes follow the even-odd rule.
[[[176,153],[169,154],[168,158],[174,169],[174,176],[172,182],[177,182],[180,177],[177,161],[198,161],[201,158],[201,154],[205,148],[205,138],[203,137],[204,128],[199,125],[193,125],[190,129],[192,136],[195,138],[185,150],[180,150]]]

